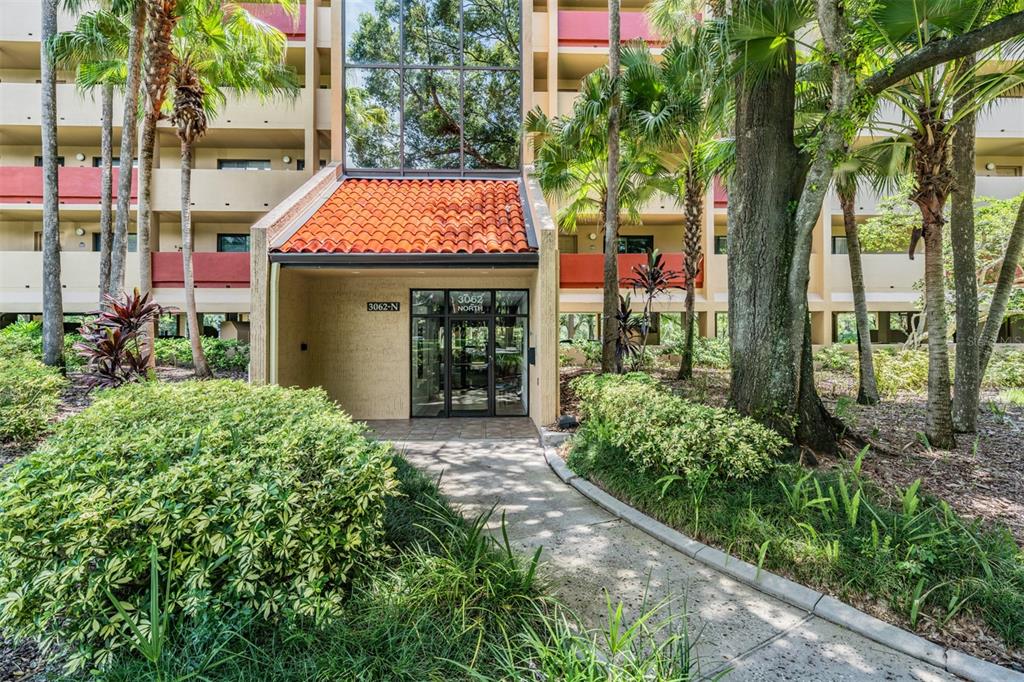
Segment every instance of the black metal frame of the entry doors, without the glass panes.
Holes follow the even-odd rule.
[[[418,291],[439,291],[443,294],[442,312],[441,314],[416,314],[413,312],[415,309],[413,307],[413,296]],[[482,314],[453,314],[451,312],[451,299],[450,295],[453,291],[470,291],[470,292],[489,292],[490,293],[490,312]],[[511,292],[521,292],[526,296],[525,310],[526,314],[521,315],[500,315],[497,312],[498,307],[498,292],[500,291],[511,291]],[[529,289],[527,288],[502,288],[502,289],[485,289],[480,287],[455,287],[455,288],[417,288],[409,290],[409,417],[410,419],[478,419],[480,417],[528,417],[529,416],[529,401],[532,398],[532,391],[529,387],[529,380],[531,371],[529,368]],[[415,361],[413,357],[413,332],[414,325],[413,319],[416,317],[425,317],[440,319],[441,326],[444,329],[444,376],[443,376],[443,391],[444,391],[444,409],[443,414],[434,416],[423,416],[414,415],[413,409],[413,385],[416,381],[415,375]],[[524,347],[523,347],[523,363],[526,364],[526,376],[525,384],[523,390],[526,391],[526,404],[524,406],[524,412],[522,415],[499,415],[498,414],[498,397],[497,397],[497,377],[495,376],[496,371],[496,326],[498,317],[516,317],[525,318],[525,325],[523,326],[524,332]],[[473,414],[454,414],[452,410],[452,327],[454,323],[465,322],[465,321],[482,321],[487,325],[487,409]]]

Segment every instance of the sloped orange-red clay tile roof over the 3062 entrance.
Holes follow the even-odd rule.
[[[343,178],[270,245],[270,260],[523,266],[538,260],[518,179]]]

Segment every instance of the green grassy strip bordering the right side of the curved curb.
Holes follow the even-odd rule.
[[[887,505],[858,458],[844,472],[780,464],[703,489],[636,470],[597,431],[584,425],[569,466],[664,523],[840,598],[881,600],[904,625],[942,629],[971,614],[1007,646],[1024,645],[1024,553],[1008,530],[965,522],[918,484]]]

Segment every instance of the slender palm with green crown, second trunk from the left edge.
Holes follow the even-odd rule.
[[[110,3],[108,3],[110,4]],[[100,89],[99,198],[99,304],[112,290],[111,258],[114,241],[114,91],[123,87],[130,28],[124,2],[82,14],[75,29],[58,34],[52,42],[54,60],[76,67],[76,83],[82,91]]]

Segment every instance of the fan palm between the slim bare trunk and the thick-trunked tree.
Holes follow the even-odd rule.
[[[731,79],[719,32],[690,26],[665,49],[660,62],[644,45],[626,51],[624,97],[632,127],[656,144],[674,176],[668,187],[683,208],[683,352],[679,378],[693,373],[693,305],[703,257],[705,197],[715,176],[726,172],[733,140],[723,138],[732,115]]]

